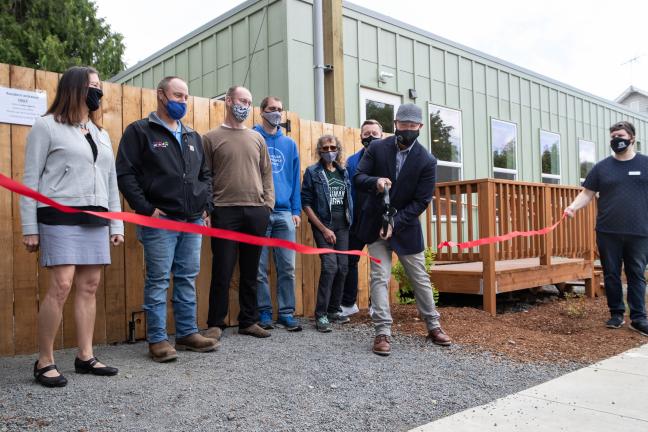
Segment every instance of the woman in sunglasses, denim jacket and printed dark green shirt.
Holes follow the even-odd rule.
[[[353,202],[349,174],[342,164],[342,143],[333,135],[317,140],[319,161],[306,169],[302,182],[302,207],[313,230],[317,247],[337,250],[349,248],[349,226]],[[344,281],[348,271],[348,256],[322,254],[315,327],[331,331],[331,322],[348,322],[339,313]]]

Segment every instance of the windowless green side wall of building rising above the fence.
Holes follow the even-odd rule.
[[[254,103],[271,93],[288,107],[286,5],[252,3],[116,81],[155,88],[163,77],[177,75],[187,81],[190,94],[211,98],[243,84],[251,59],[246,87]]]

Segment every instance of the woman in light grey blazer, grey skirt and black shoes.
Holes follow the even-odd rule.
[[[36,119],[27,137],[26,186],[77,209],[121,211],[112,145],[98,121],[102,96],[95,69],[72,67],[63,74],[52,106]],[[40,264],[50,275],[38,312],[39,356],[34,378],[46,387],[67,384],[54,364],[54,338],[73,281],[79,344],[74,369],[116,375],[116,368],[95,358],[92,335],[101,269],[110,264],[109,243],[117,246],[124,241],[122,222],[63,213],[25,197],[20,200],[20,214],[23,243],[29,252],[40,249]]]

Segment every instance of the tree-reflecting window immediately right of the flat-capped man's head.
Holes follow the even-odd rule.
[[[429,105],[432,154],[437,158],[437,181],[461,180],[461,111]]]

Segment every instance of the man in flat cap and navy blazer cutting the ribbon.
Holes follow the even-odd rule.
[[[356,187],[368,194],[360,210],[356,235],[369,244],[369,253],[381,260],[380,264],[371,263],[371,319],[376,331],[373,352],[383,356],[391,353],[388,284],[392,251],[398,255],[412,282],[428,338],[437,345],[452,343],[439,324],[430,277],[425,270],[419,216],[432,200],[436,159],[417,141],[423,127],[421,108],[414,104],[401,105],[394,125],[394,136],[369,144],[354,177]],[[385,188],[390,188],[391,205],[396,208],[393,226],[390,224],[386,232],[382,229]]]

